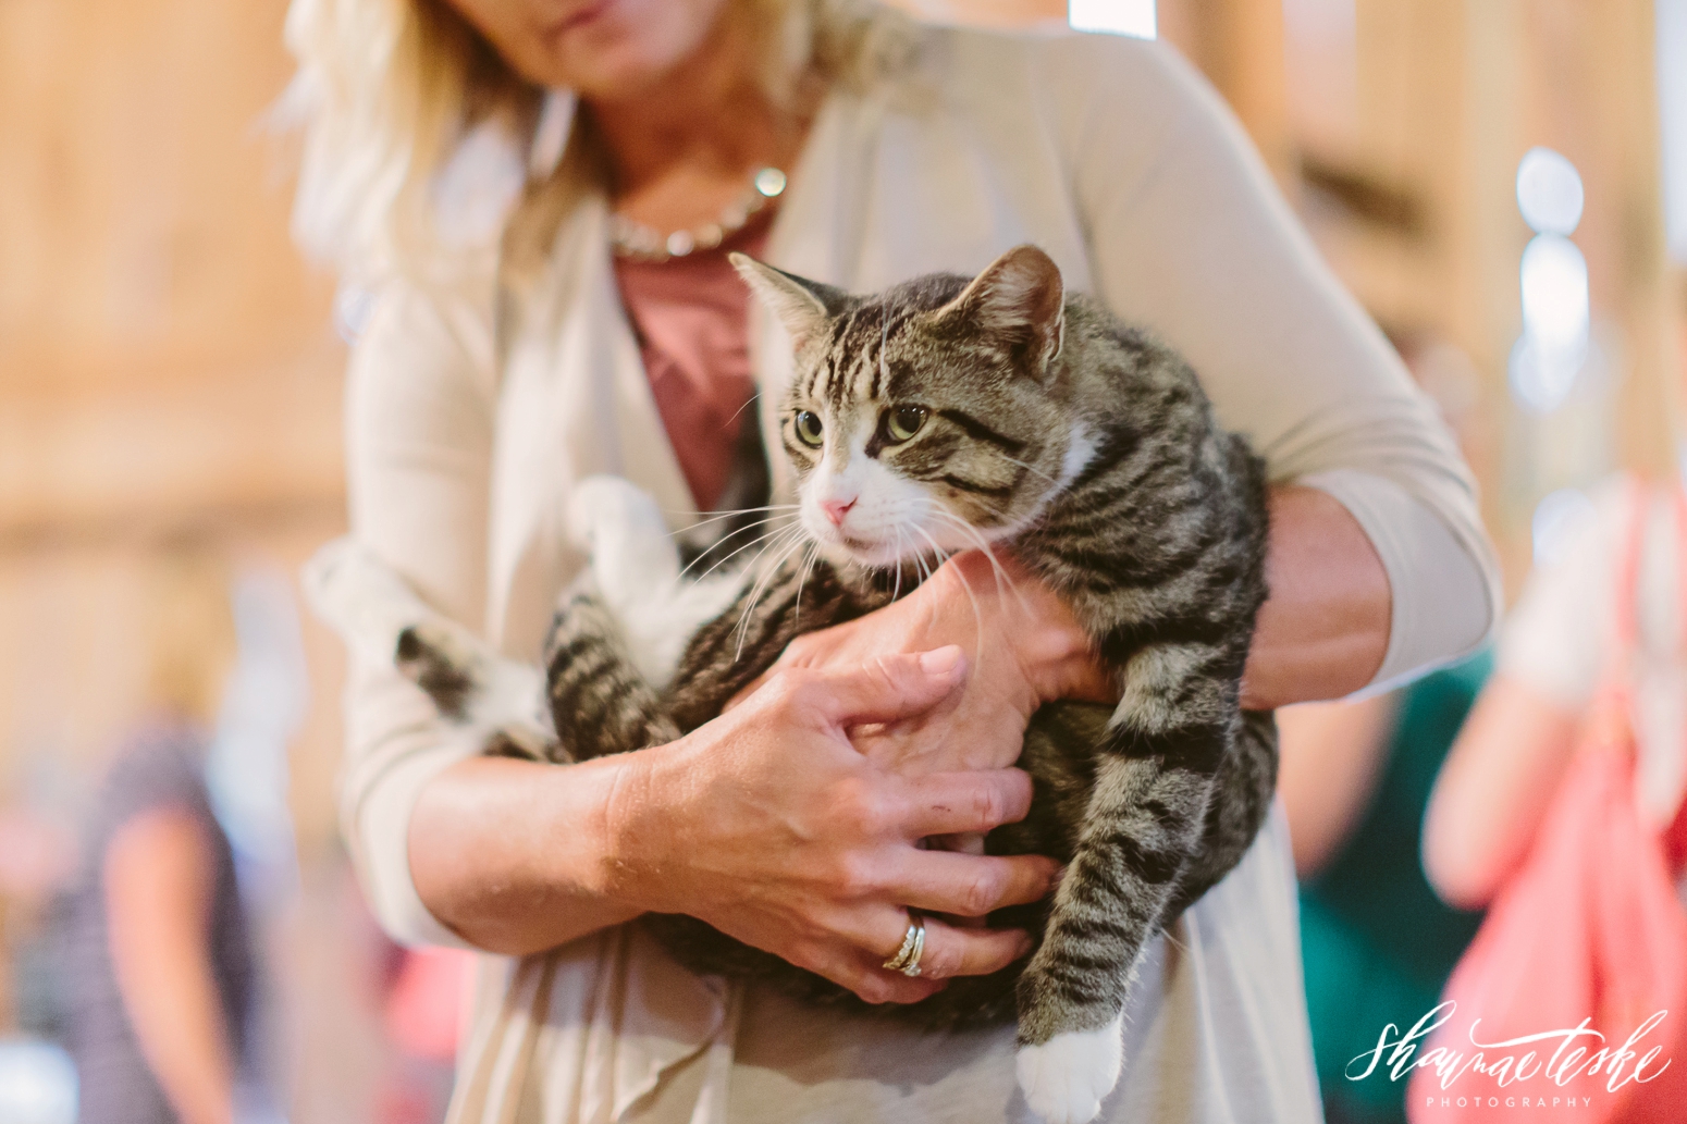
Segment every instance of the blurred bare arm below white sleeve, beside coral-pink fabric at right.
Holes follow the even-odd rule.
[[[1478,910],[1528,852],[1576,748],[1577,716],[1495,673],[1441,766],[1424,817],[1424,873]]]

